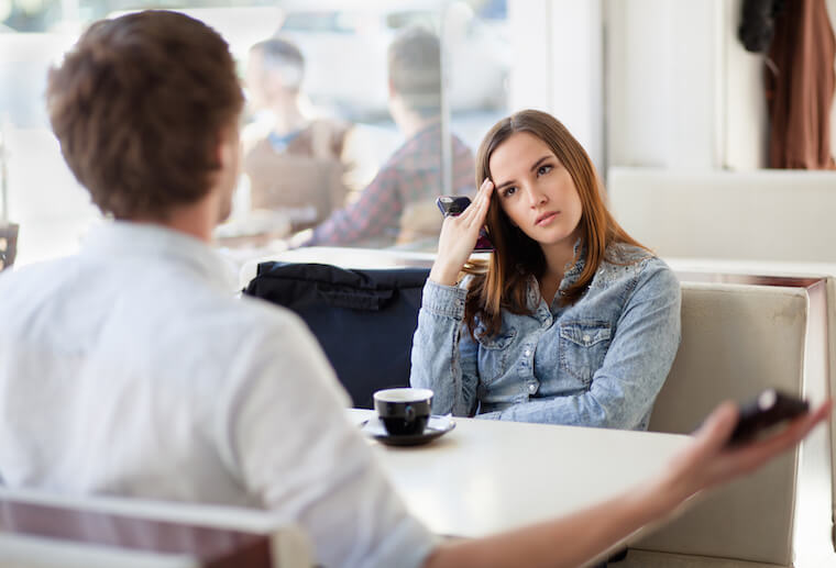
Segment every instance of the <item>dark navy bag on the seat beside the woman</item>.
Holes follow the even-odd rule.
[[[346,270],[262,263],[244,290],[296,312],[319,339],[358,408],[378,389],[409,386],[409,356],[427,268]]]

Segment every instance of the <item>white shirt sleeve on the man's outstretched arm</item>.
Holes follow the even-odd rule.
[[[297,522],[329,567],[416,567],[437,537],[408,514],[310,332],[276,310],[241,342],[219,433],[254,503]],[[279,313],[280,312],[280,313]]]

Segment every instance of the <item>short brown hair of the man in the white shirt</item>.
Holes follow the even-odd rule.
[[[219,136],[244,99],[218,33],[152,10],[92,24],[50,70],[46,101],[64,159],[102,213],[166,219],[210,190]]]

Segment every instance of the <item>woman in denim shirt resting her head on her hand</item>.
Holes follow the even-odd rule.
[[[436,392],[433,413],[646,430],[679,346],[671,269],[618,226],[586,152],[549,114],[499,121],[476,181],[441,230],[413,386]],[[468,264],[485,224],[496,250]]]

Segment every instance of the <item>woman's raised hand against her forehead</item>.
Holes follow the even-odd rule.
[[[438,255],[430,270],[430,280],[444,286],[455,286],[459,272],[476,246],[479,232],[485,224],[494,183],[482,182],[473,202],[460,215],[448,215],[441,225]]]

